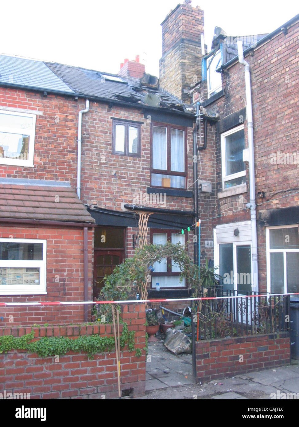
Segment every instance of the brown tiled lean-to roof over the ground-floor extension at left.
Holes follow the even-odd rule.
[[[0,183],[0,217],[94,222],[73,189],[58,185]]]

